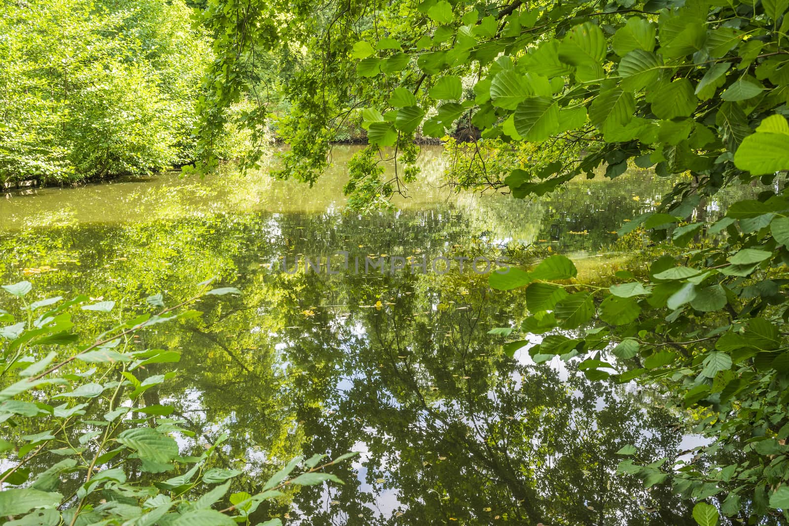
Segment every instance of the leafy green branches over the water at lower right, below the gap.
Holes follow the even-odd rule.
[[[789,213],[789,203],[768,218],[761,214],[764,203],[748,206],[757,205],[758,216],[716,222],[735,230],[730,244],[688,252],[679,261],[661,257],[645,280],[620,271],[624,281],[608,289],[579,284],[564,256],[490,278],[494,289],[525,287],[529,316],[522,331],[544,334],[529,349],[533,360],[581,356],[578,367],[589,379],[660,384],[696,415],[694,431],[711,439],[692,461],[674,466],[641,465],[638,452],[623,452],[634,459],[619,464],[620,471],[642,476],[646,487],[670,482],[686,498],[712,498],[742,521],[782,517],[789,508],[783,485],[789,474],[789,309],[780,290],[789,280],[772,268],[772,260],[783,264],[789,253],[768,234],[771,219],[773,228],[787,222],[780,213]],[[742,203],[731,208],[736,213]],[[754,220],[764,222],[757,231],[734,226],[747,230],[743,225]],[[514,341],[505,350],[527,343]]]

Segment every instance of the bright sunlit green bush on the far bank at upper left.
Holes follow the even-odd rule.
[[[174,2],[0,6],[0,181],[69,182],[180,165],[208,39]]]

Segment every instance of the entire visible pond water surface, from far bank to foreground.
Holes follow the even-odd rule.
[[[634,256],[613,232],[671,181],[648,172],[596,177],[530,201],[458,194],[441,183],[439,148],[426,147],[424,181],[396,209],[360,216],[343,211],[354,150],[337,147],[313,188],[228,168],[204,181],[166,173],[6,196],[2,282],[28,279],[36,297],[116,300],[106,319],[75,317],[94,333],[144,310],[150,294],[175,304],[211,277],[241,289],[201,300],[201,319],[147,330],[134,345],[181,350],[176,378],[146,401],[176,406],[196,432],[183,438],[187,447],[230,435],[220,461],[249,472],[233,491],[255,493],[297,454],[361,452],[332,468],[344,486],[292,491],[261,506],[256,520],[694,524],[671,491],[615,474],[626,444],[645,461],[687,447],[663,398],[588,382],[572,365],[506,356],[506,338],[488,330],[519,326],[522,295],[491,291],[484,274],[461,272],[453,259],[522,263],[529,252],[521,248],[534,245],[574,256],[583,279],[608,275]],[[285,268],[299,259],[300,270],[283,272],[283,256]],[[364,269],[365,258],[389,266],[422,256],[453,263],[448,272]],[[327,257],[335,274],[305,272],[305,258]]]

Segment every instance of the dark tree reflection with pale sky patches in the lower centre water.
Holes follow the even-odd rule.
[[[563,382],[550,367],[503,356],[486,334],[500,306],[479,289],[451,293],[463,285],[449,276],[433,283],[454,306],[426,311],[418,285],[406,294],[401,284],[389,308],[352,311],[331,341],[301,339],[286,350],[308,367],[297,382],[304,432],[314,437],[305,453],[368,451],[361,482],[346,476],[323,502],[316,490],[297,497],[308,523],[395,524],[372,511],[388,500],[407,524],[488,524],[496,516],[514,524],[692,524],[670,491],[643,491],[641,481],[615,474],[623,458],[616,452],[628,443],[645,459],[674,456],[679,436],[667,412],[641,401],[644,394],[574,372]],[[365,330],[353,330],[359,326]],[[307,364],[326,352],[335,382],[312,382]],[[326,500],[337,503],[326,509]]]

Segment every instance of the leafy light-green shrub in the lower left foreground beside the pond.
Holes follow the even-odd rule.
[[[78,296],[68,301],[54,297],[28,303],[29,282],[2,286],[21,300],[26,317],[13,323],[12,315],[0,311],[0,321],[11,323],[0,328],[4,341],[0,420],[6,427],[0,451],[6,462],[13,464],[0,474],[0,516],[9,517],[5,524],[251,524],[252,513],[260,504],[281,497],[286,487],[342,483],[323,469],[355,453],[328,462],[320,454],[307,460],[296,457],[254,495],[228,495],[242,472],[211,467],[225,435],[207,445],[199,456],[181,454],[170,435],[194,436],[193,431],[182,428],[183,421],[168,417],[173,407],[146,405],[141,397],[175,373],[137,378],[146,365],[178,362],[180,355],[171,350],[135,351],[129,344],[134,334],[149,326],[200,315],[188,307],[204,295],[238,293],[233,287],[200,285],[196,297],[170,308],[164,306],[160,294],[148,297],[148,304],[161,308],[158,314],[118,323],[88,345],[77,345],[79,338],[73,332],[69,311],[81,305],[84,311],[110,312],[113,301],[85,304],[88,297]],[[76,353],[73,345],[77,345]],[[69,349],[68,357],[57,350],[48,351],[58,347]],[[85,372],[66,371],[64,367],[72,362],[93,367]],[[103,415],[103,419],[85,420],[88,411]],[[17,432],[10,438],[13,427],[39,432],[23,436]],[[36,457],[62,460],[31,478],[27,466]],[[300,465],[305,472],[289,478]],[[155,476],[176,468],[181,475]],[[134,477],[130,472],[150,475]],[[62,493],[64,487],[73,487],[73,492]],[[282,522],[272,519],[264,524]]]

